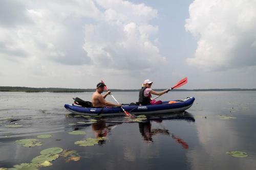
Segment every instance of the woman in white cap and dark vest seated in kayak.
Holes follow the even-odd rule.
[[[140,105],[159,105],[162,104],[162,101],[151,100],[151,94],[162,95],[167,93],[169,89],[163,91],[154,91],[151,89],[153,82],[150,80],[145,80],[143,83],[143,87],[140,89],[139,93],[139,104]]]

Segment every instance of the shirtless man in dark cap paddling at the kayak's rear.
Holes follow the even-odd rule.
[[[120,107],[120,104],[115,104],[112,102],[108,102],[105,100],[106,96],[111,93],[111,91],[108,91],[103,96],[101,93],[104,91],[104,86],[106,86],[104,83],[98,83],[96,87],[96,91],[92,95],[92,104],[93,107],[105,107],[105,106],[117,106]]]

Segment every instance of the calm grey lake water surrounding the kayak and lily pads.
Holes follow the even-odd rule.
[[[159,100],[194,96],[194,105],[180,114],[150,115],[141,123],[118,116],[92,117],[96,123],[77,124],[92,118],[67,116],[63,105],[75,97],[90,101],[91,95],[0,92],[0,168],[30,163],[41,150],[59,147],[75,150],[73,156],[80,160],[59,156],[52,166],[39,169],[256,169],[256,91],[169,92]],[[138,92],[113,95],[120,103],[138,100]],[[107,100],[114,102],[111,96]],[[68,133],[74,130],[86,134]],[[37,138],[40,134],[52,137]],[[106,140],[90,147],[74,144],[97,136]],[[15,144],[28,138],[42,145]],[[248,156],[232,157],[226,154],[229,151]]]

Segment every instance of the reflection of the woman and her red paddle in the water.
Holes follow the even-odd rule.
[[[161,123],[162,120],[154,120],[157,123]],[[159,122],[160,121],[160,122]],[[146,142],[153,142],[152,136],[156,134],[168,135],[176,140],[177,143],[182,145],[183,149],[188,149],[188,144],[183,141],[181,138],[175,136],[173,133],[170,133],[167,129],[152,129],[151,122],[139,123],[139,130]]]

